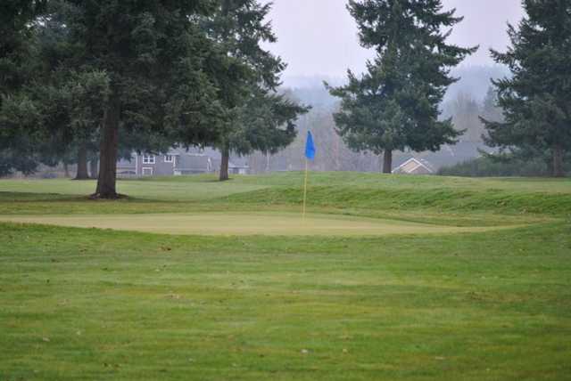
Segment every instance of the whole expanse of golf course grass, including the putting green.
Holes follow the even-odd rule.
[[[570,181],[301,183],[0,181],[0,380],[571,379]]]

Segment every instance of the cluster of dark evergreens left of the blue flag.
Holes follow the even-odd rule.
[[[307,111],[277,93],[285,62],[256,0],[5,0],[0,4],[0,175],[99,161],[95,198],[113,199],[116,163],[173,144],[274,152]],[[74,160],[75,159],[75,160]]]

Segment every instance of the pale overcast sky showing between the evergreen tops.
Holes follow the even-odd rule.
[[[269,0],[261,0],[268,3]],[[346,69],[362,71],[371,53],[359,45],[357,28],[346,0],[273,0],[272,20],[278,42],[274,53],[288,63],[286,77],[342,77]],[[451,43],[480,45],[464,64],[492,64],[488,49],[508,44],[506,23],[523,16],[521,0],[443,0],[465,19],[454,28]]]

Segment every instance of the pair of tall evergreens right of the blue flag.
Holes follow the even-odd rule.
[[[525,18],[509,25],[508,51],[491,50],[509,76],[492,80],[476,119],[478,106],[467,99],[459,100],[456,106],[463,110],[453,118],[440,118],[443,95],[458,81],[451,69],[476,50],[447,44],[449,35],[442,30],[450,33],[462,20],[454,10],[444,11],[441,1],[350,0],[360,43],[377,57],[362,75],[349,71],[348,85],[330,87],[341,100],[337,133],[352,150],[383,154],[385,173],[391,172],[395,150],[436,151],[480,135],[498,151],[493,158],[498,162],[546,162],[551,175],[564,176],[571,151],[571,5],[522,4]],[[467,131],[454,128],[454,122]]]

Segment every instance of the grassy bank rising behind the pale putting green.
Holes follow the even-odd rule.
[[[95,182],[0,181],[1,214],[153,213],[196,209],[244,210],[276,207],[297,210],[302,200],[302,174],[237,176],[215,182],[212,176],[121,181],[131,199],[99,204],[86,202]],[[58,201],[58,207],[44,201]],[[381,174],[311,174],[309,206],[317,209],[369,211],[419,209],[431,213],[488,212],[501,215],[571,215],[571,181],[550,179],[466,179]],[[230,204],[230,206],[228,206]],[[244,204],[246,204],[244,206]],[[252,205],[254,204],[254,205]],[[218,205],[218,207],[217,207]]]

